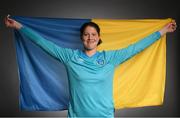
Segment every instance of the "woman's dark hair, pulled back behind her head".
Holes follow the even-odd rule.
[[[80,28],[80,33],[81,33],[80,36],[81,36],[81,38],[82,38],[83,33],[84,33],[84,30],[86,29],[87,26],[94,27],[94,28],[96,29],[98,35],[100,36],[100,28],[99,28],[98,24],[96,24],[96,23],[94,23],[94,22],[86,22],[86,23],[84,23],[84,24],[81,26],[81,28]],[[100,45],[101,43],[102,43],[102,40],[99,39],[99,42],[98,42],[97,45]]]

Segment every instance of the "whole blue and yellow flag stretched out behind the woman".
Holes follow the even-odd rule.
[[[14,17],[58,46],[82,49],[80,27],[93,21],[101,28],[98,50],[115,50],[161,29],[171,19],[70,19]],[[66,69],[28,37],[14,30],[20,80],[20,108],[28,111],[65,110],[69,103]],[[166,36],[116,68],[115,109],[160,105],[166,76]]]

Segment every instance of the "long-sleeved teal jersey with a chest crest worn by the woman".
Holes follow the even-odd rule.
[[[89,57],[81,50],[59,47],[29,28],[22,27],[20,32],[65,65],[70,93],[68,117],[114,117],[115,68],[161,37],[157,31],[125,48],[97,51]]]

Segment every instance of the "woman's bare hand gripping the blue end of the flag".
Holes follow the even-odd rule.
[[[22,27],[22,24],[9,18],[9,16],[10,15],[8,15],[4,20],[6,27],[15,28],[17,30],[20,29]]]

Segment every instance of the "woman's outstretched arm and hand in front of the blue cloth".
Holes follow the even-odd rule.
[[[27,37],[29,37],[30,40],[32,40],[34,43],[44,49],[51,56],[59,59],[62,63],[66,63],[73,53],[72,49],[57,46],[53,42],[44,39],[42,36],[34,32],[30,28],[24,27],[21,23],[10,19],[9,16],[5,18],[5,24],[7,27],[17,29],[23,34],[25,34]]]

